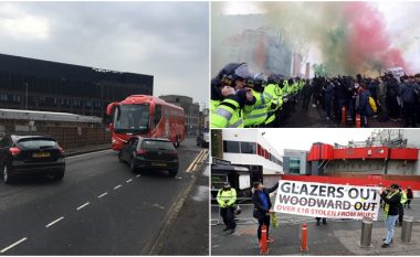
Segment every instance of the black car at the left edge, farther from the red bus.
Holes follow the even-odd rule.
[[[0,168],[4,183],[20,174],[48,174],[59,181],[65,171],[63,149],[51,137],[6,136],[0,141]]]

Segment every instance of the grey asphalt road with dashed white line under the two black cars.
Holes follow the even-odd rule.
[[[191,182],[193,172],[186,170],[201,150],[192,138],[181,144],[176,178],[165,171],[137,175],[106,150],[67,158],[62,182],[1,183],[0,254],[148,254]]]

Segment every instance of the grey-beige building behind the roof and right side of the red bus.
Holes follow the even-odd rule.
[[[189,96],[166,95],[159,96],[159,98],[183,108],[187,136],[197,136],[199,133],[200,105],[198,103],[192,103],[192,98]]]

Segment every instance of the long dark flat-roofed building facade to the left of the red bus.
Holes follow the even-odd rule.
[[[109,103],[153,95],[150,75],[0,54],[0,105],[105,118]]]

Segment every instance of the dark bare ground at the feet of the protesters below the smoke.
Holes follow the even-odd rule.
[[[370,117],[369,126],[371,128],[401,128],[403,127],[403,120],[388,120],[387,122],[380,122],[378,118]],[[291,117],[281,127],[285,128],[354,128],[355,125],[343,126],[339,120],[334,118],[327,119],[326,111],[321,106],[312,107],[312,103],[307,109],[302,108],[302,101],[295,105],[295,109]]]

